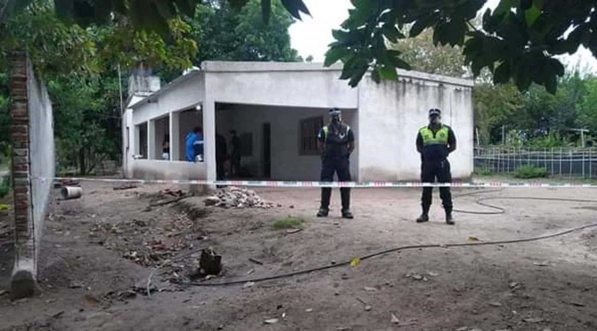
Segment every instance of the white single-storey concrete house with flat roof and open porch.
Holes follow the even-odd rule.
[[[131,76],[122,117],[123,168],[128,178],[216,179],[216,132],[242,141],[247,178],[319,180],[316,134],[328,110],[343,110],[356,136],[351,156],[358,181],[418,180],[415,149],[427,111],[442,110],[458,149],[453,177],[473,171],[472,80],[399,71],[398,82],[377,85],[365,76],[357,88],[339,80],[341,66],[315,63],[205,62],[161,87],[159,79]],[[184,138],[194,126],[205,136],[205,161],[184,161]],[[168,137],[168,138],[167,138]],[[170,160],[161,160],[170,142]]]

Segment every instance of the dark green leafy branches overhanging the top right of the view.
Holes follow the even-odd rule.
[[[436,45],[463,46],[465,63],[475,76],[488,68],[494,83],[512,79],[518,90],[526,91],[534,82],[553,94],[558,77],[564,76],[564,66],[554,56],[573,54],[580,45],[597,52],[594,0],[501,0],[496,10],[485,12],[482,28],[476,29],[470,21],[486,2],[352,0],[355,9],[349,10],[341,29],[334,30],[336,41],[325,64],[342,61],[340,78],[350,86],[356,86],[368,68],[373,68],[376,81],[396,79],[394,68],[410,65],[384,41],[406,38],[400,29],[413,24],[410,38],[433,27]]]

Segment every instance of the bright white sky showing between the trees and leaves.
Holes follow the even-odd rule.
[[[328,44],[334,39],[331,30],[338,29],[340,24],[348,17],[348,10],[352,8],[350,0],[303,0],[309,8],[312,17],[303,17],[302,21],[294,23],[290,29],[291,44],[298,53],[306,58],[312,55],[314,62],[323,62]],[[488,0],[485,7],[495,8],[500,0]],[[482,9],[482,11],[484,11]],[[574,55],[566,55],[560,60],[565,64],[587,66],[591,71],[597,72],[597,60],[591,52],[583,48],[578,49]]]

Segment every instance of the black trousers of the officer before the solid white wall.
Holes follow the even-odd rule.
[[[452,173],[450,171],[450,162],[444,161],[423,161],[421,163],[421,182],[423,183],[435,183],[437,179],[438,183],[451,183]],[[424,211],[429,211],[431,206],[433,188],[423,188],[423,195],[421,195],[421,205]],[[442,199],[442,205],[446,212],[451,212],[452,205],[452,193],[449,187],[439,188],[439,197]]]

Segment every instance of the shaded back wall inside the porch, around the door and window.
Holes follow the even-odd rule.
[[[235,129],[238,135],[253,133],[253,155],[243,157],[243,167],[248,167],[256,177],[263,174],[263,123],[271,124],[271,155],[273,180],[319,180],[321,157],[300,155],[300,121],[306,118],[323,116],[324,124],[329,120],[326,108],[267,107],[256,105],[235,105],[230,110],[216,112],[216,127],[230,144],[229,130]],[[355,110],[344,110],[343,118],[354,130],[359,139]],[[230,151],[229,151],[230,152]],[[358,170],[356,149],[350,158],[352,175],[356,179]]]

